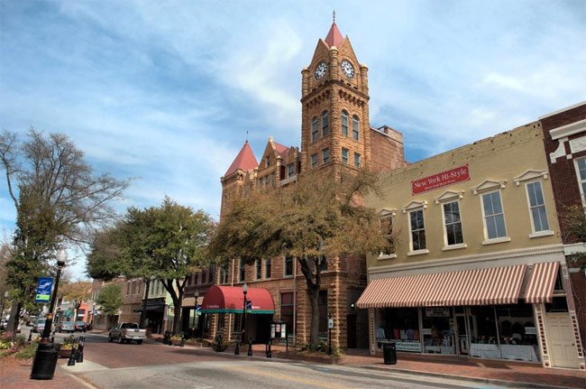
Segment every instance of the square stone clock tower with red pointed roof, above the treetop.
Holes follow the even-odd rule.
[[[335,21],[301,74],[301,171],[371,168],[368,68]]]

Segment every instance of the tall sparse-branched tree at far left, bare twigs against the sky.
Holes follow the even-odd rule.
[[[66,135],[34,129],[26,136],[1,133],[0,162],[16,209],[13,255],[6,264],[16,306],[9,328],[15,329],[38,277],[52,273],[58,247],[87,243],[97,225],[115,216],[109,204],[128,181],[96,174]]]

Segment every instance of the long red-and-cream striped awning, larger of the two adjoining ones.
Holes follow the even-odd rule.
[[[372,280],[358,308],[513,304],[526,264]]]

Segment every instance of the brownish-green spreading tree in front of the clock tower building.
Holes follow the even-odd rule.
[[[236,199],[209,245],[210,254],[252,264],[265,256],[297,258],[311,304],[310,343],[318,343],[319,290],[327,258],[388,251],[377,215],[362,206],[376,177],[300,176],[297,185]]]

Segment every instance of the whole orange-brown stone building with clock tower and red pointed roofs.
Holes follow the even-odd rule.
[[[317,42],[313,58],[301,74],[301,148],[278,144],[270,137],[257,162],[245,143],[221,179],[221,215],[232,199],[252,190],[287,185],[299,174],[319,171],[338,176],[343,171],[387,171],[406,164],[402,134],[387,125],[371,126],[368,68],[358,61],[349,38],[342,36],[335,23],[325,40]],[[366,286],[365,271],[364,258],[327,258],[319,299],[319,331],[325,336],[331,315],[334,345],[368,347],[366,314],[350,308]],[[309,341],[306,281],[292,258],[260,258],[252,265],[236,259],[220,269],[216,280],[241,291],[246,282],[251,290],[270,292],[274,314],[248,315],[246,331],[254,340],[264,340],[263,329],[268,329],[270,320],[277,320],[288,324],[290,338]],[[209,335],[214,337],[222,329],[232,338],[240,331],[239,316],[236,309],[218,311],[210,319]]]

